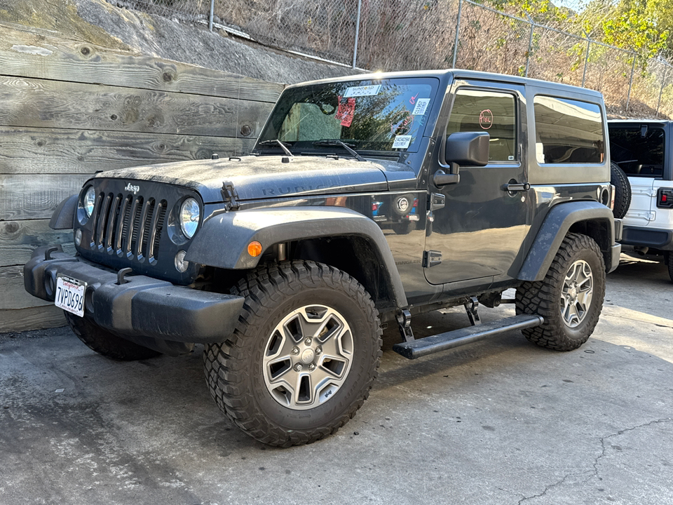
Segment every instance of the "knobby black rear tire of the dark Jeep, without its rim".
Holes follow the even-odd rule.
[[[592,274],[592,299],[583,320],[575,328],[562,316],[562,289],[569,269],[586,262]],[[584,344],[594,331],[605,297],[605,263],[598,244],[582,234],[567,234],[543,281],[526,282],[516,296],[517,314],[543,316],[545,322],[522,330],[524,336],[538,346],[557,351],[572,351]]]

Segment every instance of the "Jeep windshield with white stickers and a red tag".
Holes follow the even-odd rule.
[[[334,152],[418,150],[438,79],[431,77],[318,83],[281,95],[257,148]],[[271,141],[271,142],[269,142]]]

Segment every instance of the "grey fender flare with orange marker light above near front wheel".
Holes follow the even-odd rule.
[[[215,215],[196,233],[185,260],[222,269],[253,269],[261,255],[247,253],[252,241],[261,243],[264,252],[277,243],[337,236],[362,237],[372,245],[388,276],[395,306],[407,307],[405,288],[383,231],[369,217],[348,208],[261,208]]]

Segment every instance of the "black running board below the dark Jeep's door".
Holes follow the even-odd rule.
[[[393,351],[401,354],[408,359],[421,358],[447,349],[453,349],[465,344],[477,342],[477,340],[485,339],[487,337],[494,337],[512,330],[523,330],[524,328],[535,328],[544,323],[542,316],[530,316],[528,314],[520,314],[519,316],[512,316],[509,318],[498,319],[491,323],[483,323],[476,326],[468,326],[460,330],[452,330],[449,332],[433,335],[432,337],[423,337],[418,340],[410,342],[402,342],[395,344]]]

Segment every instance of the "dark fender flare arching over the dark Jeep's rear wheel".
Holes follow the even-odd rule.
[[[542,281],[556,256],[561,243],[573,224],[597,222],[604,226],[606,235],[597,241],[604,259],[606,271],[612,271],[611,248],[615,243],[615,226],[612,210],[597,201],[574,201],[557,203],[545,217],[538,230],[526,260],[519,271],[520,281]]]

